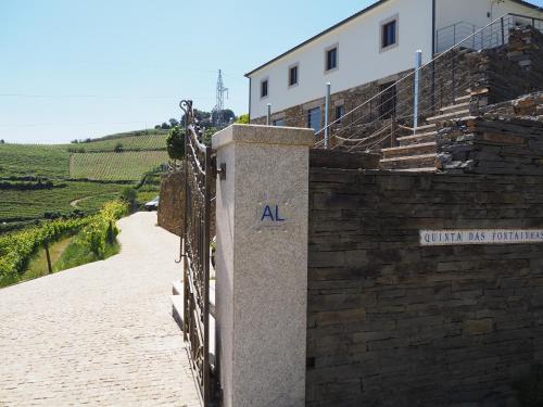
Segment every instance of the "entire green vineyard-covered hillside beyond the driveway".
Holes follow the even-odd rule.
[[[141,181],[168,162],[166,138],[140,130],[71,144],[0,144],[0,233],[51,214],[93,213],[130,185],[141,201],[156,195],[159,177]]]

